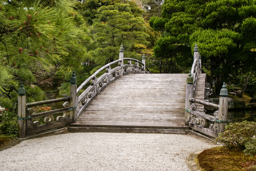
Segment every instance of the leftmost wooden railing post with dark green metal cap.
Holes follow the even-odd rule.
[[[23,88],[23,83],[21,82],[21,88],[18,91],[18,138],[25,138],[26,129],[26,91]]]

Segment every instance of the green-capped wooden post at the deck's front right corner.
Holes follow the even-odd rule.
[[[188,121],[190,118],[189,111],[189,98],[193,97],[193,77],[191,77],[191,71],[189,71],[188,77],[186,78],[186,102],[185,102],[185,125],[188,126]]]

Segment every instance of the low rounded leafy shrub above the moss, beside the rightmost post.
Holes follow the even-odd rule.
[[[256,123],[243,121],[242,123],[228,124],[225,132],[220,133],[216,142],[225,144],[229,149],[246,149],[246,143],[253,142],[256,135]]]

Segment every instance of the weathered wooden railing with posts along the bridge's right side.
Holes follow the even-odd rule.
[[[196,44],[194,48],[194,63],[186,81],[185,125],[216,138],[219,133],[225,131],[225,126],[228,123],[228,98],[226,97],[228,91],[225,89],[225,83],[223,83],[220,91],[221,97],[219,98],[220,105],[210,103],[206,100],[195,99],[197,77],[201,71],[201,56],[198,57],[198,47]],[[216,108],[217,111],[213,113],[213,116],[196,111],[197,107],[195,103]]]

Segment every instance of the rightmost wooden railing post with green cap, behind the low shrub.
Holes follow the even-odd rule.
[[[221,97],[219,98],[219,126],[217,132],[221,133],[225,131],[225,126],[228,124],[228,90],[226,89],[225,83],[223,83],[219,95]]]

